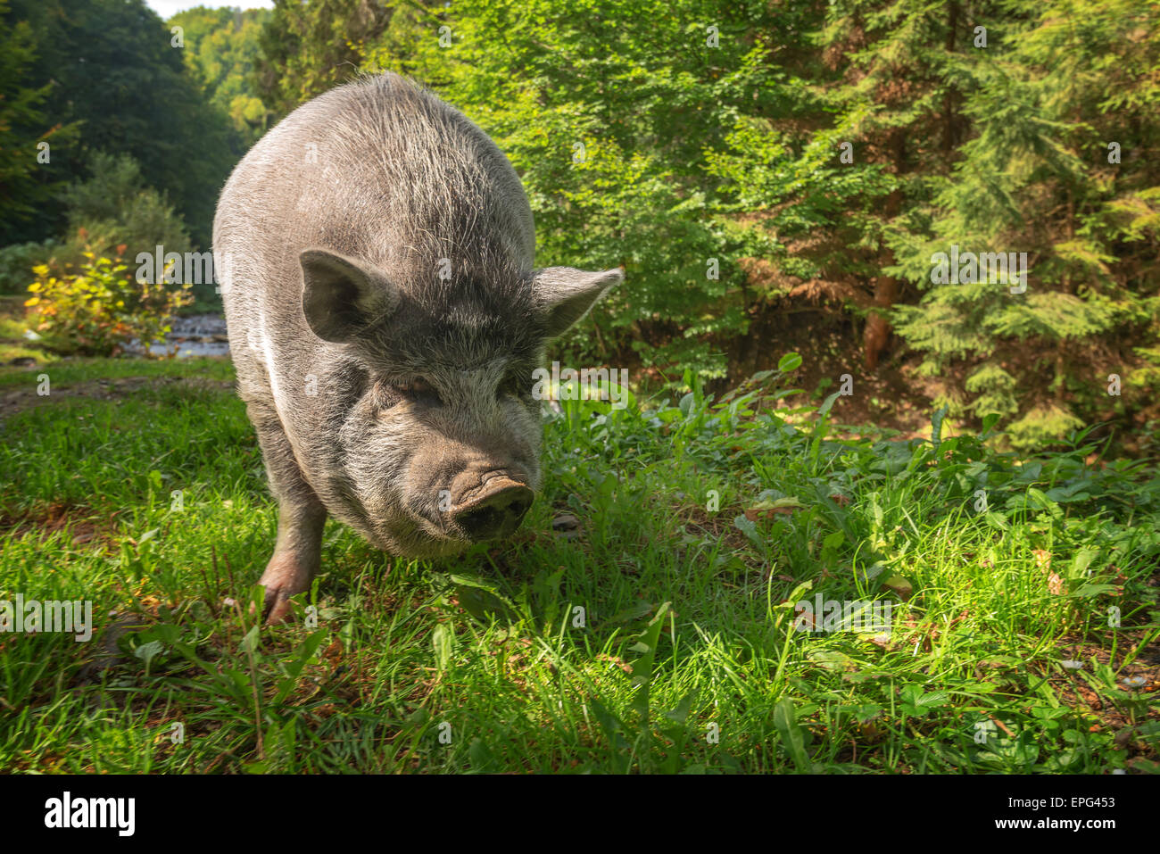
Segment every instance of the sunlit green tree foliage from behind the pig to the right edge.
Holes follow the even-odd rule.
[[[496,138],[542,262],[626,269],[565,340],[577,357],[735,377],[812,298],[857,319],[870,370],[893,324],[952,415],[1002,413],[1021,447],[1153,405],[1154,3],[426,13],[392,19],[363,67],[416,74]],[[951,245],[1027,252],[1028,291],[933,283]],[[1112,372],[1131,397],[1109,398]]]

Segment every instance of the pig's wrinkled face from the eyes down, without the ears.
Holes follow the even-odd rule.
[[[539,487],[532,366],[374,370],[340,436],[348,482],[380,548],[452,555],[512,534]]]

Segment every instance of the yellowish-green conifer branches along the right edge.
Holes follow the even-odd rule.
[[[927,180],[922,227],[893,229],[887,243],[892,272],[922,294],[896,316],[923,372],[942,377],[959,412],[1010,415],[1012,442],[1034,448],[1122,414],[1109,374],[1136,392],[1131,408],[1157,388],[1160,12],[1134,0],[1005,12],[986,50],[957,59],[956,114],[972,137]],[[951,244],[1027,252],[1027,292],[933,283],[931,252]],[[971,369],[965,384],[956,364]]]

